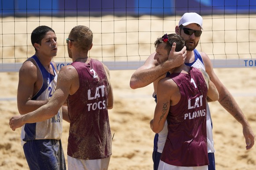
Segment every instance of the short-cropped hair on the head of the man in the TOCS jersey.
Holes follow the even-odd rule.
[[[91,29],[84,25],[78,25],[72,28],[69,38],[74,41],[74,46],[80,50],[90,50],[93,34]]]

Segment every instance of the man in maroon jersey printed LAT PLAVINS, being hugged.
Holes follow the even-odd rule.
[[[172,43],[180,50],[185,41],[177,34],[165,34],[155,42],[154,59],[168,59]],[[151,129],[159,133],[168,120],[168,135],[158,170],[207,170],[206,99],[216,101],[218,91],[204,70],[184,63],[171,69],[157,84],[157,106]]]

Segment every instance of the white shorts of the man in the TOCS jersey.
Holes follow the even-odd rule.
[[[76,159],[68,156],[69,170],[107,170],[110,157],[104,159]]]

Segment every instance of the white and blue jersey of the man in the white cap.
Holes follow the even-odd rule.
[[[205,65],[200,53],[196,49],[194,49],[194,54],[195,54],[195,60],[192,63],[185,63],[185,64],[190,67],[201,68],[205,70]],[[156,95],[153,97],[155,99],[157,98]],[[211,118],[211,113],[210,113],[208,103],[206,103],[206,112],[207,112],[207,116],[206,116],[207,150],[208,150],[208,153],[209,152],[213,153],[215,152],[215,149],[214,149],[214,143],[213,143],[213,137],[212,137],[212,118]],[[167,134],[168,134],[167,121],[165,121],[165,126],[163,130],[158,134],[156,134],[154,137],[154,151],[157,151],[160,153],[163,152]]]

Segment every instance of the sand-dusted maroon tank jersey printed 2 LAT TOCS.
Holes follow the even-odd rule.
[[[67,99],[70,118],[67,154],[77,159],[103,159],[111,156],[108,117],[109,82],[101,62],[73,62],[79,75],[77,92]]]

